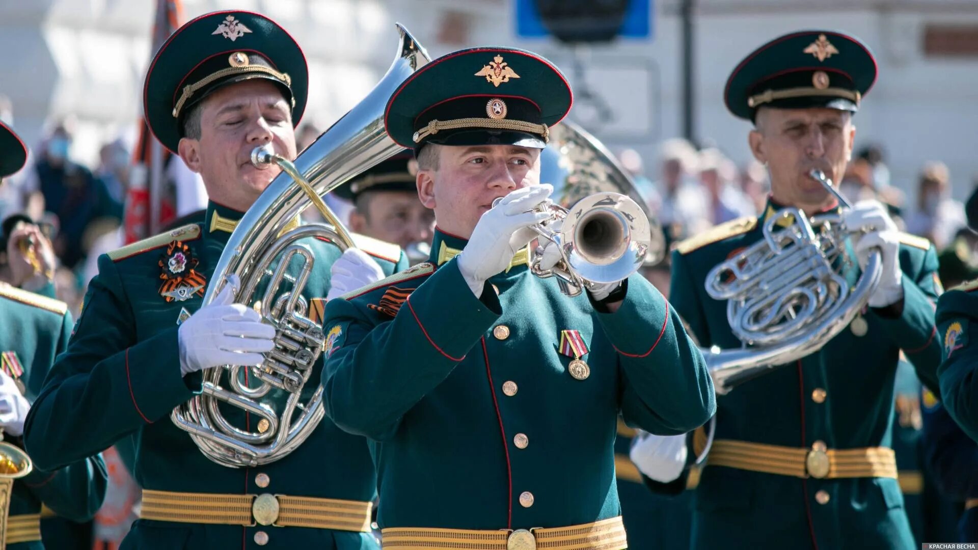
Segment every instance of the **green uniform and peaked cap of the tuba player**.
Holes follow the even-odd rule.
[[[147,76],[151,128],[175,149],[178,112],[186,113],[221,85],[247,78],[269,78],[282,88],[286,100],[294,100],[298,123],[306,68],[284,29],[246,12],[208,14],[185,24],[157,52]],[[89,284],[67,351],[28,417],[27,446],[41,467],[51,468],[134,438],[133,475],[143,487],[143,503],[122,548],[375,548],[370,501],[376,475],[363,437],[323,421],[282,460],[235,469],[211,462],[170,421],[173,408],[201,385],[200,372],[181,376],[178,325],[200,308],[242,215],[211,202],[201,223],[99,257],[99,274]],[[309,318],[321,321],[330,267],[340,251],[319,238],[298,243],[314,253],[303,297]],[[406,266],[397,247],[361,239],[358,246],[386,274]],[[289,267],[292,276],[298,259]],[[321,364],[314,366],[302,402],[319,385]],[[279,392],[282,402],[281,391],[268,398]],[[234,426],[257,426],[242,409],[221,406],[221,412]],[[284,527],[255,525],[259,494],[261,502],[279,505],[275,525]]]

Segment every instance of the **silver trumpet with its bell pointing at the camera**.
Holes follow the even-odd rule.
[[[502,198],[493,201],[493,206],[500,201]],[[560,259],[544,269],[544,247],[537,247],[529,261],[530,272],[541,278],[556,277],[560,292],[568,297],[626,279],[645,263],[651,244],[648,216],[626,195],[605,191],[569,208],[545,203],[534,210],[552,214],[531,228],[556,245]]]

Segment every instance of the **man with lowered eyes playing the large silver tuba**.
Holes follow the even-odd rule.
[[[210,197],[205,217],[99,258],[67,352],[26,427],[27,446],[45,469],[135,438],[143,503],[123,547],[376,547],[376,475],[363,437],[322,422],[284,459],[233,469],[208,460],[168,418],[200,391],[201,369],[259,364],[275,345],[276,330],[251,304],[232,303],[237,280],[200,303],[244,210],[279,172],[255,167],[251,151],[268,145],[295,157],[293,128],[306,94],[298,44],[277,23],[243,11],[184,24],[149,69],[150,128],[201,174]],[[309,317],[320,321],[339,249],[316,239],[304,244],[316,262],[303,294]],[[396,246],[367,252],[384,274],[406,266]],[[363,273],[359,284],[382,276]],[[262,430],[243,409],[222,404],[221,412],[236,426]]]

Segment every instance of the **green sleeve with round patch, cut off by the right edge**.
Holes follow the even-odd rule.
[[[944,360],[937,375],[941,401],[972,439],[978,440],[978,295],[948,291],[937,302],[937,329]]]

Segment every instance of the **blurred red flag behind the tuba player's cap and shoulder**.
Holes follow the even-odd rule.
[[[156,51],[183,22],[181,0],[156,0],[153,51]],[[151,61],[152,61],[151,55]],[[170,153],[160,145],[146,123],[139,121],[139,141],[133,151],[133,169],[125,201],[125,243],[145,239],[176,217],[176,206],[163,197],[163,176]]]

